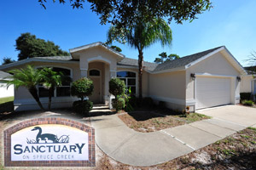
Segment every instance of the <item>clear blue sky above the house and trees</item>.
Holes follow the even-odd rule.
[[[84,9],[46,3],[42,8],[36,0],[3,1],[0,6],[0,60],[17,59],[15,39],[20,33],[31,32],[39,38],[50,40],[63,50],[91,42],[105,42],[108,27],[100,25],[98,16]],[[192,23],[171,23],[172,47],[162,48],[155,43],[144,50],[144,59],[154,61],[161,52],[185,56],[225,45],[241,65],[256,50],[255,0],[212,0],[213,8],[198,15]],[[113,43],[123,50],[126,57],[137,59],[137,50],[128,44]]]

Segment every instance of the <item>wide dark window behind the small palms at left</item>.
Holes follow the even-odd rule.
[[[71,71],[69,69],[53,67],[53,71],[62,72],[63,76],[71,77]],[[44,88],[43,85],[38,85],[38,95],[39,98],[44,98],[49,96],[49,90]],[[64,97],[70,96],[70,82],[62,82],[60,87],[55,88],[52,97]]]

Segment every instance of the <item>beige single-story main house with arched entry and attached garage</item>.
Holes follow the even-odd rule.
[[[137,59],[125,58],[123,54],[95,42],[70,49],[71,56],[36,57],[24,59],[0,70],[9,71],[27,64],[37,67],[51,66],[55,71],[63,71],[73,78],[90,77],[94,82],[94,93],[90,97],[94,103],[109,104],[108,82],[113,77],[125,81],[134,94],[138,94]],[[239,103],[240,77],[247,72],[225,47],[185,56],[163,64],[144,62],[143,97],[151,97],[156,102],[164,101],[166,106],[182,111],[189,106],[190,111],[202,108]],[[38,94],[44,105],[48,99],[47,90],[38,87]],[[70,84],[55,89],[53,107],[67,107],[76,98],[70,96]],[[38,109],[31,94],[25,88],[15,90],[17,111]]]

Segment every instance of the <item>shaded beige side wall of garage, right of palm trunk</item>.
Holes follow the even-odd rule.
[[[166,102],[166,106],[173,110],[182,111],[186,99],[185,77],[185,71],[148,74],[148,96]]]

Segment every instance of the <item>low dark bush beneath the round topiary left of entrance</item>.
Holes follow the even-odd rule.
[[[89,100],[78,100],[73,102],[73,111],[79,115],[88,116],[89,111],[92,110],[93,103]]]

